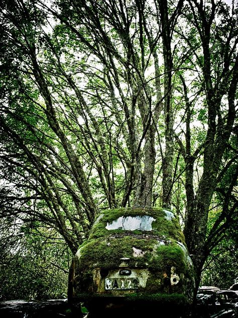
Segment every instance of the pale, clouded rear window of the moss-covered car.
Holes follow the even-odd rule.
[[[113,222],[107,223],[106,229],[151,231],[153,221],[155,221],[154,217],[148,215],[120,216]]]

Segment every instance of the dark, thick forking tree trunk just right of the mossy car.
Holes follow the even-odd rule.
[[[186,164],[186,178],[185,188],[187,196],[186,207],[186,220],[185,220],[185,238],[187,246],[191,255],[193,255],[193,262],[196,271],[196,287],[198,288],[202,267],[204,262],[214,246],[214,241],[217,241],[214,233],[218,231],[224,231],[226,226],[220,227],[219,222],[213,225],[210,234],[207,233],[207,221],[208,212],[212,196],[215,192],[217,184],[220,179],[220,171],[222,156],[227,147],[228,140],[230,138],[233,122],[235,118],[235,92],[238,82],[238,54],[236,54],[235,61],[232,66],[232,72],[230,72],[227,61],[223,64],[223,69],[220,75],[220,80],[213,84],[211,76],[212,59],[210,49],[210,34],[211,24],[214,19],[216,5],[212,2],[212,6],[208,11],[194,0],[190,1],[191,10],[193,12],[193,19],[197,28],[197,32],[200,36],[204,61],[202,64],[202,72],[204,78],[204,89],[206,91],[206,104],[207,104],[207,133],[203,145],[200,145],[193,154],[191,154],[191,134],[190,134],[190,118],[191,118],[191,105],[187,97],[187,88],[184,78],[181,77],[184,88],[184,96],[186,101],[187,118],[186,118],[186,145],[179,142],[184,161]],[[195,8],[195,9],[194,9]],[[231,43],[228,40],[226,42],[227,47],[225,50],[228,52]],[[226,58],[227,56],[225,56]],[[221,116],[221,98],[228,91],[228,113],[226,118]],[[194,194],[193,185],[193,164],[196,160],[201,148],[204,148],[203,152],[203,174],[198,184],[196,194]],[[237,172],[234,174],[236,178]],[[233,182],[233,181],[232,181]],[[230,196],[230,191],[226,193],[226,199]],[[228,206],[223,210],[225,224],[228,225],[227,219],[229,219],[233,213],[233,208],[229,211]],[[220,228],[219,228],[220,227]],[[221,229],[222,228],[222,229]],[[212,234],[213,233],[213,234]]]

